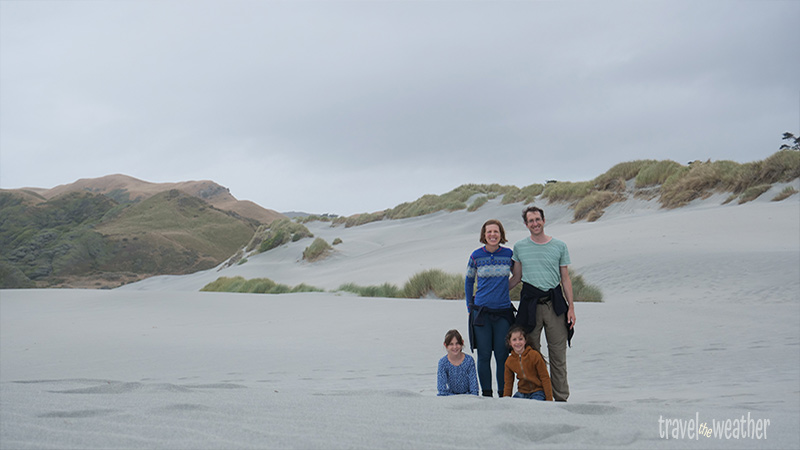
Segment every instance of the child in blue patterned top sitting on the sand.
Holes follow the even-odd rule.
[[[478,375],[475,360],[461,351],[464,338],[458,330],[450,330],[444,335],[444,348],[447,355],[439,360],[437,373],[437,395],[471,394],[478,395]]]

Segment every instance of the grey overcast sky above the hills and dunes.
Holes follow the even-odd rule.
[[[800,135],[800,1],[0,1],[0,187],[351,215]]]

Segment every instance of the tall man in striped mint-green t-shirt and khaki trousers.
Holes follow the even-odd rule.
[[[512,259],[517,264],[512,271],[523,281],[516,324],[530,333],[529,342],[537,351],[541,351],[544,328],[553,398],[565,402],[569,397],[567,340],[575,326],[569,251],[563,241],[544,234],[541,208],[529,206],[522,212],[522,219],[531,235],[514,244]]]

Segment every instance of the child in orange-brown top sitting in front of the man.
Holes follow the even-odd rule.
[[[517,376],[517,393],[515,398],[535,400],[553,400],[553,386],[547,373],[547,364],[542,355],[528,346],[525,329],[520,326],[511,327],[506,336],[506,345],[511,347],[511,354],[506,358],[505,386],[503,397],[510,397],[514,387],[514,375]]]

